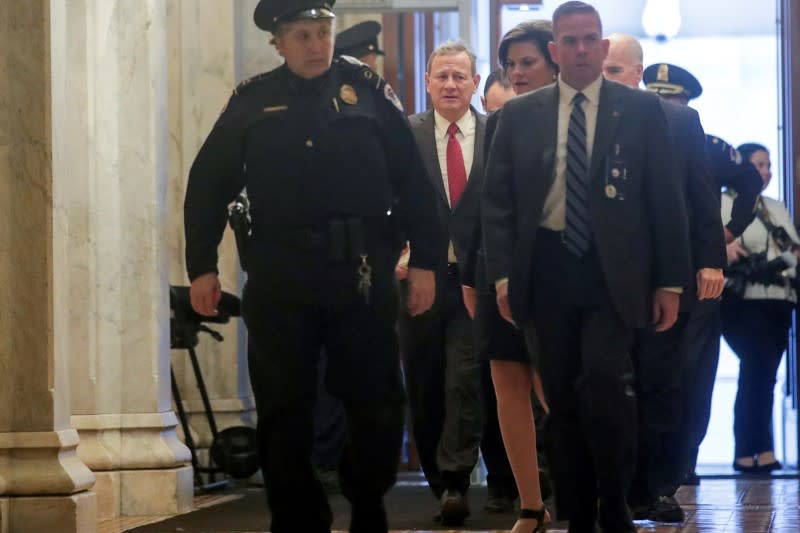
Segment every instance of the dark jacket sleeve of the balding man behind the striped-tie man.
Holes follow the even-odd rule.
[[[689,215],[692,268],[724,268],[727,264],[725,236],[719,215],[719,186],[711,174],[705,132],[697,111],[662,100],[672,140],[675,176],[680,180]],[[697,298],[694,276],[681,296],[681,309],[688,310]]]

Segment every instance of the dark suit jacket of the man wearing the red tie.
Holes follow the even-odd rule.
[[[473,246],[479,242],[474,242],[472,235],[478,224],[480,208],[480,192],[483,186],[483,144],[486,129],[486,116],[475,111],[470,107],[470,111],[475,115],[475,147],[473,150],[472,167],[467,175],[467,186],[456,206],[451,209],[447,201],[447,192],[444,190],[442,181],[442,169],[439,166],[439,155],[436,151],[435,119],[433,110],[418,113],[409,117],[411,131],[417,141],[425,170],[428,171],[436,190],[436,209],[442,228],[453,241],[456,258],[459,264],[465,258],[474,255]]]

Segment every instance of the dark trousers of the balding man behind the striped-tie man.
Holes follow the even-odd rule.
[[[637,330],[633,350],[638,396],[636,472],[631,485],[631,505],[645,505],[659,496],[672,496],[686,473],[680,451],[681,341],[688,312],[667,331],[652,327]]]

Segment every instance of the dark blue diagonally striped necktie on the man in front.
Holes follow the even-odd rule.
[[[582,257],[591,245],[586,114],[581,107],[585,99],[583,93],[577,93],[572,99],[572,113],[567,130],[567,209],[564,244],[577,257]]]

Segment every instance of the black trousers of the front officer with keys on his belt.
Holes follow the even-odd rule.
[[[347,412],[339,476],[352,504],[350,531],[388,531],[383,495],[397,475],[404,402],[390,275],[378,275],[371,305],[361,298],[335,307],[297,304],[250,283],[245,288],[250,382],[273,533],[330,532],[331,509],[311,463],[323,347],[327,388]]]

